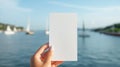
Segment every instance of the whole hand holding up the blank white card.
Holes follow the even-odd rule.
[[[51,61],[52,50],[48,43],[40,47],[31,58],[31,67],[57,67],[63,61]]]

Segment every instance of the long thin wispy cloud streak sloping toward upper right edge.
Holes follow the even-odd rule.
[[[63,6],[66,8],[74,8],[74,9],[84,9],[84,10],[90,10],[90,11],[120,11],[120,6],[107,6],[107,7],[93,7],[93,6],[81,6],[81,5],[75,5],[75,4],[69,4],[64,2],[58,2],[58,1],[50,1],[50,4]]]

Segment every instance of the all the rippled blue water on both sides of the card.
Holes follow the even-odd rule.
[[[80,31],[78,31],[78,34]],[[88,38],[78,37],[78,61],[64,62],[59,67],[120,67],[120,37],[87,31]],[[0,34],[0,67],[29,67],[30,57],[48,36],[44,31],[34,35]]]

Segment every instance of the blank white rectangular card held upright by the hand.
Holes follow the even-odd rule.
[[[51,13],[49,43],[53,61],[77,61],[77,14]]]

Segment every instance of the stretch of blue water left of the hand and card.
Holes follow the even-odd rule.
[[[35,35],[17,33],[12,36],[0,34],[0,67],[30,67],[30,58],[44,43],[48,36],[44,31]]]

